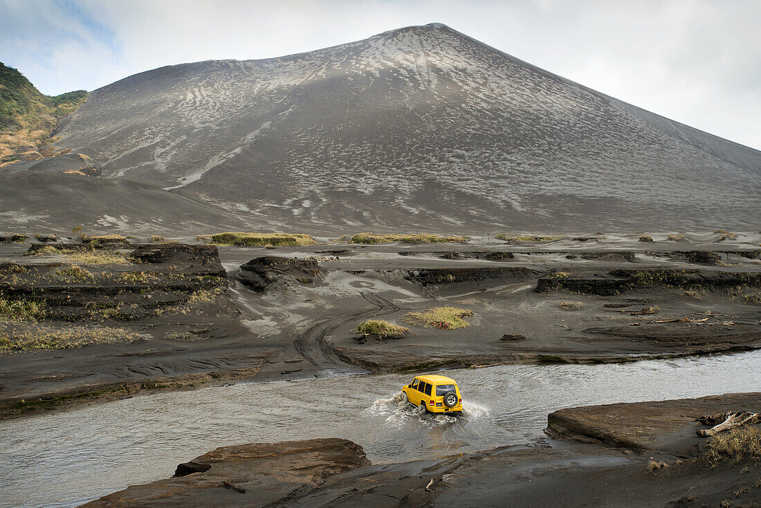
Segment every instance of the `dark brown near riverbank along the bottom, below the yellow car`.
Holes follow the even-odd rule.
[[[84,506],[753,506],[757,457],[708,458],[695,430],[759,408],[759,392],[575,407],[549,414],[562,441],[386,465],[345,439],[228,446]]]

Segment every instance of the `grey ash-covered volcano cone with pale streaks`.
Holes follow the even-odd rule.
[[[59,146],[271,227],[753,228],[761,152],[440,24],[91,93]]]

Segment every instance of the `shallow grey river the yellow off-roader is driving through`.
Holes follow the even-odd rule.
[[[202,388],[0,422],[0,506],[76,506],[237,443],[343,437],[374,463],[527,443],[562,407],[761,390],[761,352],[446,373],[460,383],[463,417],[400,407],[394,395],[412,375],[365,375]]]

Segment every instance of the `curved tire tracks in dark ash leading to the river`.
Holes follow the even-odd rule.
[[[330,315],[327,318],[317,321],[307,331],[296,337],[294,340],[294,347],[298,354],[304,357],[313,366],[319,367],[321,365],[329,364],[333,366],[349,366],[349,363],[345,363],[338,358],[333,351],[330,350],[330,346],[326,341],[326,337],[333,333],[336,328],[342,326],[349,321],[355,321],[361,318],[368,318],[371,316],[384,316],[393,314],[399,310],[399,307],[384,299],[382,296],[373,295],[366,292],[359,293],[365,301],[374,305],[373,308],[365,308],[358,312],[352,312],[351,314],[339,314]],[[319,353],[315,353],[318,351]]]

